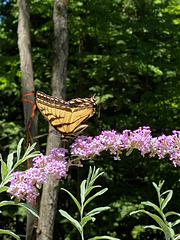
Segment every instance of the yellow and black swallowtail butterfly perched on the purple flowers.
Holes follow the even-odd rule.
[[[81,124],[95,113],[96,99],[75,98],[68,102],[37,91],[36,104],[49,123],[61,133],[62,140],[77,137],[87,124]]]

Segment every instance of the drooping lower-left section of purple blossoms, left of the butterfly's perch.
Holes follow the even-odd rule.
[[[48,156],[40,154],[33,159],[33,167],[24,172],[14,172],[8,192],[14,197],[33,202],[39,195],[38,189],[46,183],[48,174],[55,179],[66,177],[66,149],[53,148]]]

